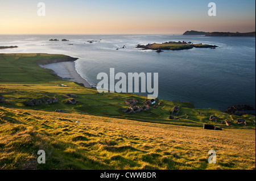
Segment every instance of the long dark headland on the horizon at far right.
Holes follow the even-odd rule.
[[[186,31],[183,35],[205,35],[205,36],[251,36],[255,37],[254,32],[247,32],[247,33],[232,33],[232,32],[203,32],[203,31]]]

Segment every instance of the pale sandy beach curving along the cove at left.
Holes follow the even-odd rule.
[[[73,82],[83,83],[85,87],[92,87],[89,82],[77,73],[75,61],[58,62],[47,65],[40,65],[43,68],[52,69],[59,77]]]

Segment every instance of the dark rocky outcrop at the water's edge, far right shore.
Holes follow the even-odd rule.
[[[228,113],[230,115],[237,115],[237,116],[242,116],[242,115],[246,115],[246,114],[254,114],[255,115],[255,109],[251,106],[248,106],[246,104],[242,104],[242,105],[237,105],[237,106],[233,106],[233,107],[229,107],[225,113]],[[251,113],[250,111],[254,111],[254,113]]]

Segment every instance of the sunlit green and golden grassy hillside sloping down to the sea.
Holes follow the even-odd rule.
[[[0,54],[0,94],[5,98],[0,103],[0,168],[255,169],[255,116],[230,116],[167,100],[159,100],[163,106],[158,108],[127,115],[125,100],[135,98],[142,106],[146,97],[100,94],[64,81],[38,66],[38,61],[52,58],[67,56]],[[79,102],[66,104],[65,94],[76,94]],[[24,105],[29,99],[53,96],[58,103]],[[179,120],[168,119],[174,106],[180,107],[175,116]],[[218,122],[210,121],[210,115]],[[245,119],[247,127],[237,125],[237,118]],[[226,126],[225,120],[233,120],[233,126]],[[223,130],[204,130],[203,124]],[[36,163],[39,149],[48,153],[46,165]],[[211,149],[217,152],[216,165],[207,164]]]

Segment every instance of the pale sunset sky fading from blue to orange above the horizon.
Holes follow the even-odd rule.
[[[46,16],[38,16],[38,3]],[[208,3],[216,3],[209,16]],[[0,34],[255,31],[254,0],[0,0]]]

